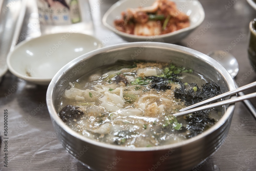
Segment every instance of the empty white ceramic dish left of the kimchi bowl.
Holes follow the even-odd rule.
[[[100,41],[81,33],[57,33],[23,41],[7,57],[15,76],[35,84],[47,85],[71,60],[98,49]]]

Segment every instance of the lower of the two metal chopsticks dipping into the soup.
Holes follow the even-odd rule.
[[[239,96],[239,97],[235,97],[235,98],[231,98],[231,99],[228,99],[228,100],[223,100],[223,101],[220,101],[220,102],[217,102],[217,103],[208,104],[208,105],[201,106],[201,107],[198,107],[198,108],[186,110],[184,112],[175,113],[175,114],[173,114],[173,116],[180,116],[180,115],[190,114],[190,113],[194,113],[194,112],[197,112],[197,111],[214,108],[216,106],[223,106],[225,104],[231,104],[231,103],[239,102],[239,101],[254,98],[254,97],[256,97],[256,92],[251,93],[251,94],[247,94],[247,95],[243,95],[243,96]]]

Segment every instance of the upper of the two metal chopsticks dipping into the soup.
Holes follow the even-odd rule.
[[[215,96],[215,97],[213,97],[213,98],[210,98],[210,99],[201,101],[201,102],[199,102],[199,103],[193,104],[193,105],[188,106],[188,107],[186,107],[186,108],[180,109],[179,111],[180,111],[180,112],[186,111],[186,110],[188,110],[188,109],[192,109],[192,108],[195,108],[195,107],[197,107],[197,106],[201,106],[201,105],[203,105],[203,104],[206,104],[206,103],[209,103],[209,102],[212,102],[212,101],[216,101],[216,100],[221,99],[221,98],[223,98],[223,97],[227,97],[227,96],[236,94],[236,93],[238,93],[238,92],[241,92],[241,91],[243,91],[243,90],[247,90],[247,89],[252,88],[252,87],[255,87],[255,86],[256,86],[256,81],[254,81],[254,82],[252,82],[252,83],[250,83],[250,84],[247,84],[247,85],[245,85],[245,86],[239,87],[239,88],[237,88],[237,89],[234,89],[234,90],[232,90],[232,91],[228,91],[228,92],[226,92],[226,93],[222,93],[222,94],[217,95],[217,96]]]

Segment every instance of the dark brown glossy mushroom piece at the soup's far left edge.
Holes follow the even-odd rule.
[[[58,115],[62,121],[72,122],[74,119],[79,119],[83,114],[83,111],[78,106],[66,105]]]

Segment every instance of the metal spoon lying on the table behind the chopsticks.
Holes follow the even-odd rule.
[[[232,54],[226,53],[225,51],[222,51],[222,50],[217,50],[217,51],[211,51],[207,55],[215,59],[217,62],[219,62],[229,72],[232,78],[237,76],[239,71],[239,66],[236,58]],[[236,87],[239,88],[237,84],[236,84]],[[243,92],[238,92],[238,94],[239,96],[245,95]],[[256,109],[252,105],[252,103],[249,100],[243,100],[243,102],[246,104],[246,106],[248,107],[248,109],[251,111],[251,113],[256,119]],[[191,108],[187,107],[187,108],[181,109],[180,112],[188,109],[191,109]]]

